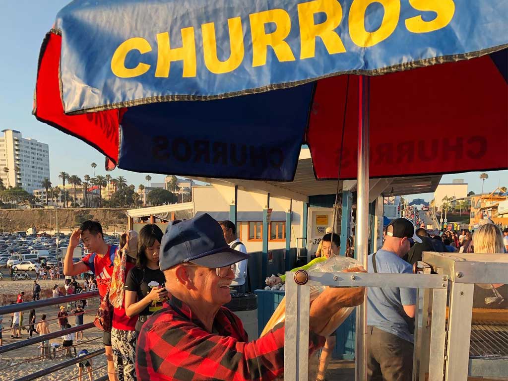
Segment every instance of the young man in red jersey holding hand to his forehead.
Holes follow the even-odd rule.
[[[72,256],[79,240],[88,249],[89,254],[80,262],[73,263]],[[104,241],[102,226],[98,221],[87,220],[81,224],[78,230],[72,233],[67,254],[63,260],[63,274],[68,276],[79,275],[91,271],[97,279],[97,285],[101,299],[104,298],[113,274],[113,258],[116,251],[115,245],[108,245]],[[104,332],[103,342],[106,348],[108,360],[109,381],[117,381],[115,366],[113,363],[113,350],[111,348],[111,333]]]

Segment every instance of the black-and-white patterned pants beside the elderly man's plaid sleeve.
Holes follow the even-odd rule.
[[[111,346],[118,381],[136,381],[136,331],[112,328]]]

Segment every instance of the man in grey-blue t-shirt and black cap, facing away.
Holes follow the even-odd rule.
[[[368,257],[368,272],[412,273],[404,257],[415,242],[415,226],[397,218],[387,228],[383,248]],[[375,262],[374,262],[375,261]],[[374,267],[375,266],[375,267]],[[407,321],[415,317],[416,289],[371,287],[367,293],[367,377],[369,381],[410,381],[413,336]]]

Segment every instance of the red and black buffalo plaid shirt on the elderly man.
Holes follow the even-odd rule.
[[[309,354],[325,338],[309,337]],[[248,342],[240,319],[221,307],[213,333],[190,308],[172,297],[143,325],[136,348],[140,381],[272,380],[284,372],[284,325]]]

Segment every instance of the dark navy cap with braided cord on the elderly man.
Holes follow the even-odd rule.
[[[180,263],[218,268],[248,259],[232,249],[224,239],[219,223],[208,213],[187,220],[170,221],[161,240],[159,266],[167,270]]]

